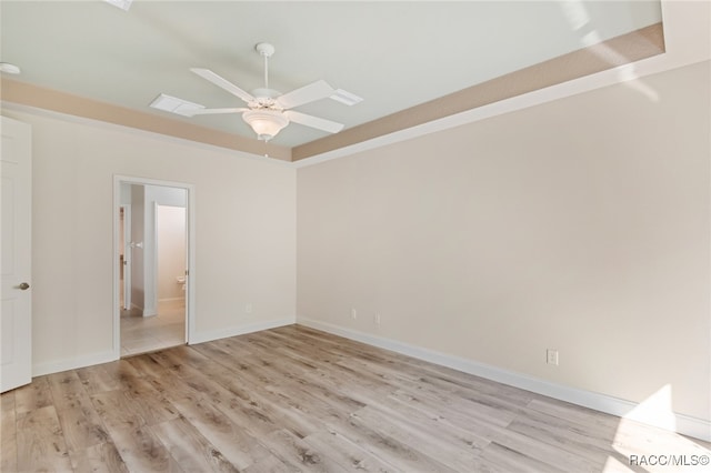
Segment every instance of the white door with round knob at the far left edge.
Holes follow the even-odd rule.
[[[30,125],[1,117],[0,392],[32,381]]]

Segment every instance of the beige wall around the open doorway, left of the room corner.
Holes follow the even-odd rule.
[[[293,320],[293,169],[143,132],[3,114],[32,125],[36,372],[112,350],[114,174],[194,185],[198,336]]]

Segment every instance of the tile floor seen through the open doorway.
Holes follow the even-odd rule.
[[[141,316],[121,311],[121,356],[146,353],[186,343],[186,301],[158,304],[158,315]]]

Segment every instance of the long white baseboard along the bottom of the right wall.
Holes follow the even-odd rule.
[[[637,422],[711,442],[711,422],[703,419],[691,417],[689,415],[678,413],[670,414],[664,419],[659,419],[659,416],[644,412],[632,412],[639,406],[638,403],[612,397],[607,394],[551,383],[538,378],[479,363],[473,360],[440,353],[433,350],[402,343],[397,340],[385,339],[308,318],[299,316],[297,318],[297,323],[419,360],[452,368],[454,370],[485,378],[502,384],[547,395],[560,401],[570,402],[572,404],[582,405],[607,414],[634,420]]]

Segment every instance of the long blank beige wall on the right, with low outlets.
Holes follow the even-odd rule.
[[[299,169],[298,316],[711,419],[709,69]]]

